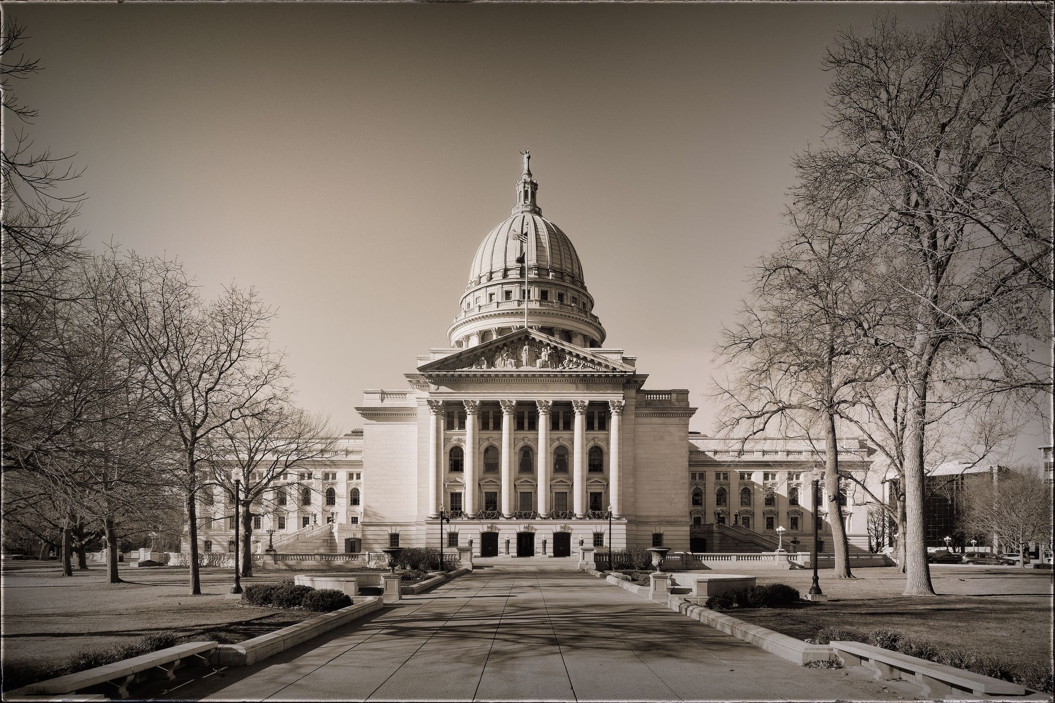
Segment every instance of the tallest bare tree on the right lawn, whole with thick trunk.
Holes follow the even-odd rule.
[[[851,193],[897,317],[862,333],[904,377],[905,594],[933,594],[923,540],[932,370],[977,393],[1051,388],[1050,6],[954,5],[908,31],[879,16],[829,48],[829,143],[800,169]]]

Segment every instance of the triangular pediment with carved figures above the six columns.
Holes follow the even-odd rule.
[[[548,334],[520,330],[418,368],[429,373],[634,373],[633,367]]]

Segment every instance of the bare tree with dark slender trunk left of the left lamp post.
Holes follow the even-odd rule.
[[[176,435],[173,472],[187,510],[190,593],[200,594],[195,497],[208,483],[208,440],[284,402],[287,373],[269,348],[271,310],[253,289],[228,287],[203,302],[183,267],[131,253],[118,262],[115,306],[129,355]]]

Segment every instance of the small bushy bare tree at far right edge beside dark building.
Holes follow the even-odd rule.
[[[1031,469],[1013,469],[997,481],[973,482],[964,490],[964,532],[993,534],[1000,544],[1013,546],[1022,567],[1031,542],[1052,544],[1052,487]]]

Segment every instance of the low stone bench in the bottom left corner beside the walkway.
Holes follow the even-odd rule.
[[[152,673],[161,675],[166,679],[174,679],[175,670],[185,660],[199,659],[203,663],[209,663],[216,652],[216,642],[188,642],[177,644],[174,647],[158,649],[147,655],[139,655],[132,659],[126,659],[104,666],[85,669],[76,673],[68,673],[46,681],[38,681],[11,691],[7,700],[16,700],[13,696],[58,696],[62,694],[74,694],[84,688],[98,686],[100,684],[111,684],[117,687],[117,696],[128,698],[129,686],[137,681],[142,681]],[[157,669],[157,671],[155,671]],[[39,700],[39,699],[37,699]]]

